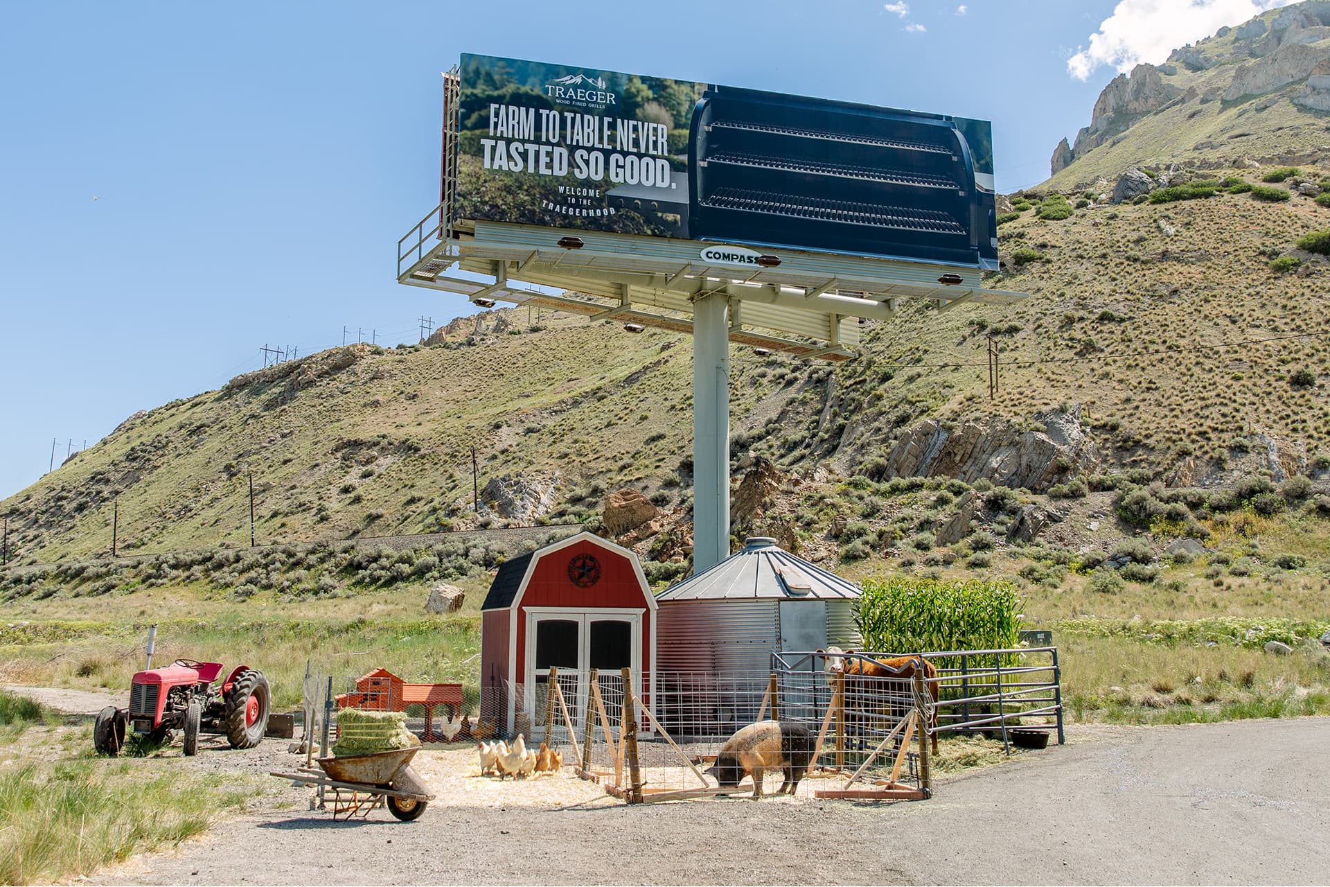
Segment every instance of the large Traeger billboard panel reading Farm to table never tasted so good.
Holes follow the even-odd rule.
[[[996,267],[987,121],[475,55],[460,86],[458,219]]]

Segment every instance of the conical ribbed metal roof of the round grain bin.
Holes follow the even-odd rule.
[[[716,567],[670,585],[657,601],[685,600],[843,600],[859,586],[779,548],[774,539],[753,537]]]

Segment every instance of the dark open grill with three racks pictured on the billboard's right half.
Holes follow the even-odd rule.
[[[689,237],[996,269],[972,150],[991,144],[952,117],[713,86],[692,121]]]

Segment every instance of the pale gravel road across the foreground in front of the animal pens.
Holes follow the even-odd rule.
[[[505,806],[513,783],[473,778],[475,790],[436,786],[440,801],[414,823],[383,811],[340,824],[273,810],[98,880],[1325,883],[1327,738],[1330,718],[1079,727],[1068,746],[894,806],[769,798],[625,807],[595,794],[560,809],[519,806],[515,794]]]

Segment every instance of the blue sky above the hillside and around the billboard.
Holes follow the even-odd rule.
[[[419,315],[466,313],[394,278],[438,199],[462,52],[992,120],[1009,191],[1116,66],[1162,61],[1161,28],[1196,39],[1256,3],[3,4],[0,497],[52,439],[59,465],[263,344],[415,342]]]

